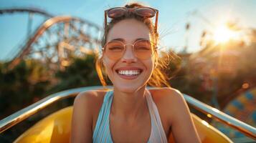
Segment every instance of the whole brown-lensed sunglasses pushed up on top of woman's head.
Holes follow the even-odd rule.
[[[146,6],[140,6],[136,8],[114,7],[112,9],[105,10],[105,27],[107,27],[107,16],[110,19],[117,19],[121,16],[124,16],[128,12],[133,12],[137,16],[141,16],[143,18],[151,18],[156,15],[154,30],[157,32],[158,10]]]

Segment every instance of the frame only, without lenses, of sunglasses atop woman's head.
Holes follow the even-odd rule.
[[[105,16],[105,27],[107,27],[108,25],[108,22],[107,22],[107,16],[108,16],[108,11],[112,10],[112,9],[124,9],[125,12],[128,12],[128,11],[131,11],[135,14],[137,14],[138,16],[141,16],[140,14],[138,14],[136,12],[136,9],[141,9],[141,8],[147,8],[147,9],[151,9],[155,12],[155,14],[153,16],[156,16],[156,19],[155,19],[155,26],[154,26],[154,31],[157,32],[157,25],[158,25],[158,9],[153,9],[151,7],[147,7],[147,6],[139,6],[139,7],[135,7],[135,8],[127,8],[127,7],[114,7],[114,8],[111,8],[111,9],[107,9],[104,11],[104,16]],[[153,17],[152,16],[152,17]],[[109,16],[108,16],[109,17]],[[144,16],[145,18],[152,18],[152,17],[146,17]],[[111,18],[109,17],[110,19],[115,19],[115,18]]]

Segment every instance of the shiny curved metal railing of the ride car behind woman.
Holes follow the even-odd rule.
[[[19,110],[19,112],[11,114],[9,117],[2,119],[0,121],[0,133],[4,132],[6,129],[13,127],[17,123],[22,122],[22,120],[27,119],[28,117],[32,116],[32,114],[39,112],[39,110],[44,109],[44,107],[47,107],[49,104],[53,104],[54,102],[60,101],[61,99],[66,99],[68,97],[75,97],[80,92],[94,89],[112,89],[112,87],[81,87],[77,89],[68,89],[63,92],[57,92],[56,94],[51,94],[48,97],[39,100],[39,102],[31,104],[29,107]],[[247,135],[247,137],[256,139],[255,127],[252,127],[245,122],[241,122],[240,120],[235,119],[234,117],[231,117],[216,108],[199,102],[199,100],[194,99],[193,97],[189,97],[186,94],[184,94],[184,99],[186,99],[186,102],[191,104],[192,107],[199,109],[199,111],[204,112],[205,114],[211,114],[212,117],[218,119],[224,124],[227,124],[229,127],[233,127],[234,129],[239,130],[243,134]]]

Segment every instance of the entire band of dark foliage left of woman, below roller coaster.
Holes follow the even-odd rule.
[[[13,69],[0,64],[0,118],[27,107],[49,94],[65,89],[100,85],[94,67],[95,55],[72,59],[65,70],[51,74],[44,64],[23,60]]]

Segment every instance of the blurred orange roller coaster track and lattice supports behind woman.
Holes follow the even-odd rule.
[[[38,9],[0,9],[0,14],[15,12],[42,14],[47,20],[19,45],[19,52],[11,60],[10,68],[22,59],[37,59],[48,66],[67,66],[70,56],[84,56],[98,51],[100,47],[102,29],[90,21],[72,16],[53,16]]]

